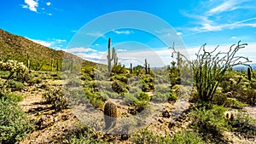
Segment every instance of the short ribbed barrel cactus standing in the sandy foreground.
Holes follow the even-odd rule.
[[[113,128],[116,124],[116,118],[117,118],[117,107],[112,102],[107,102],[104,106],[104,120],[105,120],[104,130],[109,130]]]

